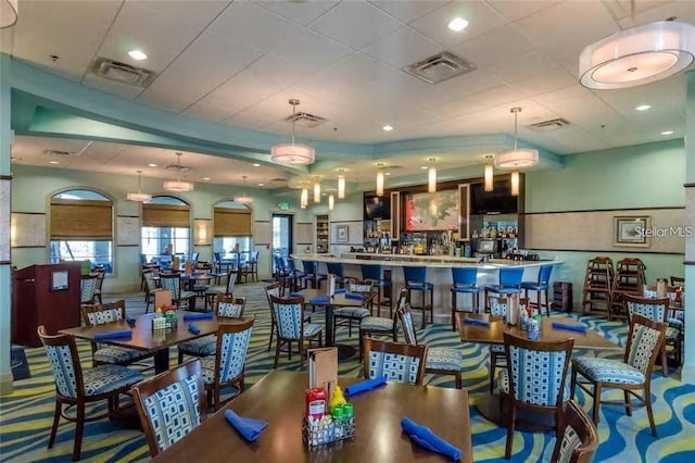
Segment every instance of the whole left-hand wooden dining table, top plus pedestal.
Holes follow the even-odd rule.
[[[100,325],[76,326],[64,328],[59,333],[73,335],[75,338],[100,343],[109,343],[130,349],[153,353],[155,373],[163,373],[169,368],[169,348],[180,342],[190,341],[202,336],[217,333],[219,321],[217,315],[210,313],[210,318],[187,320],[200,317],[199,312],[177,310],[176,328],[152,329],[152,318],[160,316],[157,313],[149,313],[135,317],[132,326],[127,321],[103,323]],[[199,333],[191,333],[189,324],[193,323]],[[130,338],[100,339],[101,335],[130,330]]]

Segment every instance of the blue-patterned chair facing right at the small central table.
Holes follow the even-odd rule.
[[[287,345],[288,360],[292,360],[292,342],[296,342],[300,355],[300,366],[304,370],[304,343],[318,341],[323,345],[323,325],[318,323],[304,322],[304,298],[278,298],[270,296],[270,303],[275,312],[278,336],[275,349],[274,368],[278,367],[280,358],[280,347]]]

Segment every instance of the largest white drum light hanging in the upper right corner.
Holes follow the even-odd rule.
[[[636,87],[678,74],[695,59],[695,26],[659,21],[631,27],[584,48],[579,55],[580,83],[587,88],[612,90]]]

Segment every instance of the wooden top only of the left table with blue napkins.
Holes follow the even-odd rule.
[[[179,310],[176,311],[176,313],[178,316],[178,327],[176,329],[153,331],[152,318],[155,316],[155,314],[149,313],[136,317],[136,324],[132,328],[130,328],[124,320],[119,322],[104,323],[102,325],[65,328],[61,329],[60,333],[73,335],[79,339],[94,340],[94,335],[97,335],[98,333],[113,333],[124,329],[132,329],[132,337],[130,339],[98,339],[98,341],[143,351],[157,351],[160,349],[176,346],[179,342],[189,341],[201,336],[217,333],[217,327],[219,326],[217,315],[213,314],[212,320],[184,321],[184,315],[193,314],[195,312]],[[194,335],[188,330],[189,323],[195,324],[195,326],[200,329],[199,335]]]

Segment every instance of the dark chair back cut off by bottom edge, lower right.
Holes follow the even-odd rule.
[[[591,463],[598,448],[598,430],[584,409],[570,400],[560,413],[552,462]]]

